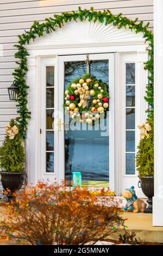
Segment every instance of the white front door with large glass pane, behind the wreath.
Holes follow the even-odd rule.
[[[89,60],[89,62],[86,62]],[[115,191],[115,110],[114,110],[114,53],[59,56],[58,109],[61,130],[58,131],[58,180],[70,185],[72,171],[82,172],[82,185],[110,187]],[[64,92],[74,79],[87,72],[108,84],[110,102],[107,118],[95,126],[67,122],[64,111]],[[69,123],[64,124],[64,123]]]

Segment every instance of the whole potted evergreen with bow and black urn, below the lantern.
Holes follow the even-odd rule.
[[[5,126],[7,131],[2,147],[0,148],[1,182],[8,192],[8,200],[15,199],[15,192],[27,183],[24,161],[26,156],[22,144],[21,134],[14,119]]]

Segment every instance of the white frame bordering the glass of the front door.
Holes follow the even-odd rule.
[[[58,78],[59,78],[59,87],[58,90],[58,99],[62,102],[59,104],[59,113],[61,115],[61,122],[64,123],[64,88],[65,88],[65,68],[64,62],[71,61],[82,61],[86,59],[86,54],[76,54],[76,55],[66,55],[58,56]],[[90,60],[109,60],[109,94],[110,94],[110,103],[109,103],[109,187],[110,191],[115,192],[115,54],[114,53],[98,53],[98,54],[89,54]],[[111,120],[111,122],[110,122]],[[113,125],[111,125],[111,124]],[[61,131],[59,132],[59,157],[65,159],[65,132],[62,126]],[[110,150],[111,149],[111,150]],[[110,161],[113,160],[113,161]],[[111,172],[110,172],[111,170]],[[65,161],[61,161],[59,164],[59,182],[65,178]],[[94,188],[92,188],[94,189]]]

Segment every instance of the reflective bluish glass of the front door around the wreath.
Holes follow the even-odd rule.
[[[97,80],[102,80],[109,84],[109,59],[103,59],[103,54],[93,54],[90,58],[89,71],[96,76]],[[96,59],[97,57],[97,59]],[[65,70],[65,90],[68,84],[76,78],[80,78],[87,72],[85,63],[86,56],[81,61],[64,62]],[[89,99],[90,100],[90,99]],[[89,100],[87,104],[89,104]],[[114,99],[111,99],[114,101]],[[70,119],[71,121],[71,119]],[[71,125],[65,131],[65,179],[70,185],[70,161],[72,171],[82,172],[82,185],[88,187],[109,187],[109,117],[101,120],[101,125],[85,126],[77,124],[76,130],[71,129]],[[113,124],[112,124],[113,125]],[[104,127],[105,133],[102,129]],[[112,149],[114,150],[114,149]],[[114,162],[114,159],[112,159]],[[112,170],[114,172],[114,170]]]

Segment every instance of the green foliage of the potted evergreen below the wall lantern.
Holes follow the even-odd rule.
[[[10,126],[17,125],[14,119],[11,119]],[[20,132],[15,135],[14,139],[9,139],[9,135],[5,135],[2,147],[0,148],[0,168],[4,172],[24,172],[24,161],[26,155],[22,144]]]

